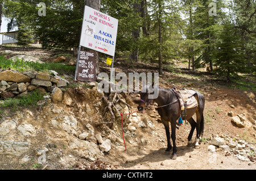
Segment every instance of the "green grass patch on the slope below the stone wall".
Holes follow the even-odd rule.
[[[0,108],[3,107],[10,107],[13,111],[16,111],[19,106],[24,108],[31,108],[36,107],[37,102],[43,99],[43,95],[40,94],[37,90],[28,92],[28,95],[16,97],[16,98],[9,98],[4,100],[3,103],[0,104]]]

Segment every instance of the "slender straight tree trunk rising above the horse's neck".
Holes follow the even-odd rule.
[[[163,50],[162,50],[162,4],[158,2],[158,43],[159,43],[159,53],[158,53],[158,67],[159,67],[159,75],[163,74]]]

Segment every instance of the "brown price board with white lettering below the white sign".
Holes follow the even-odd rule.
[[[80,51],[77,67],[79,81],[96,81],[96,57],[90,51]]]

